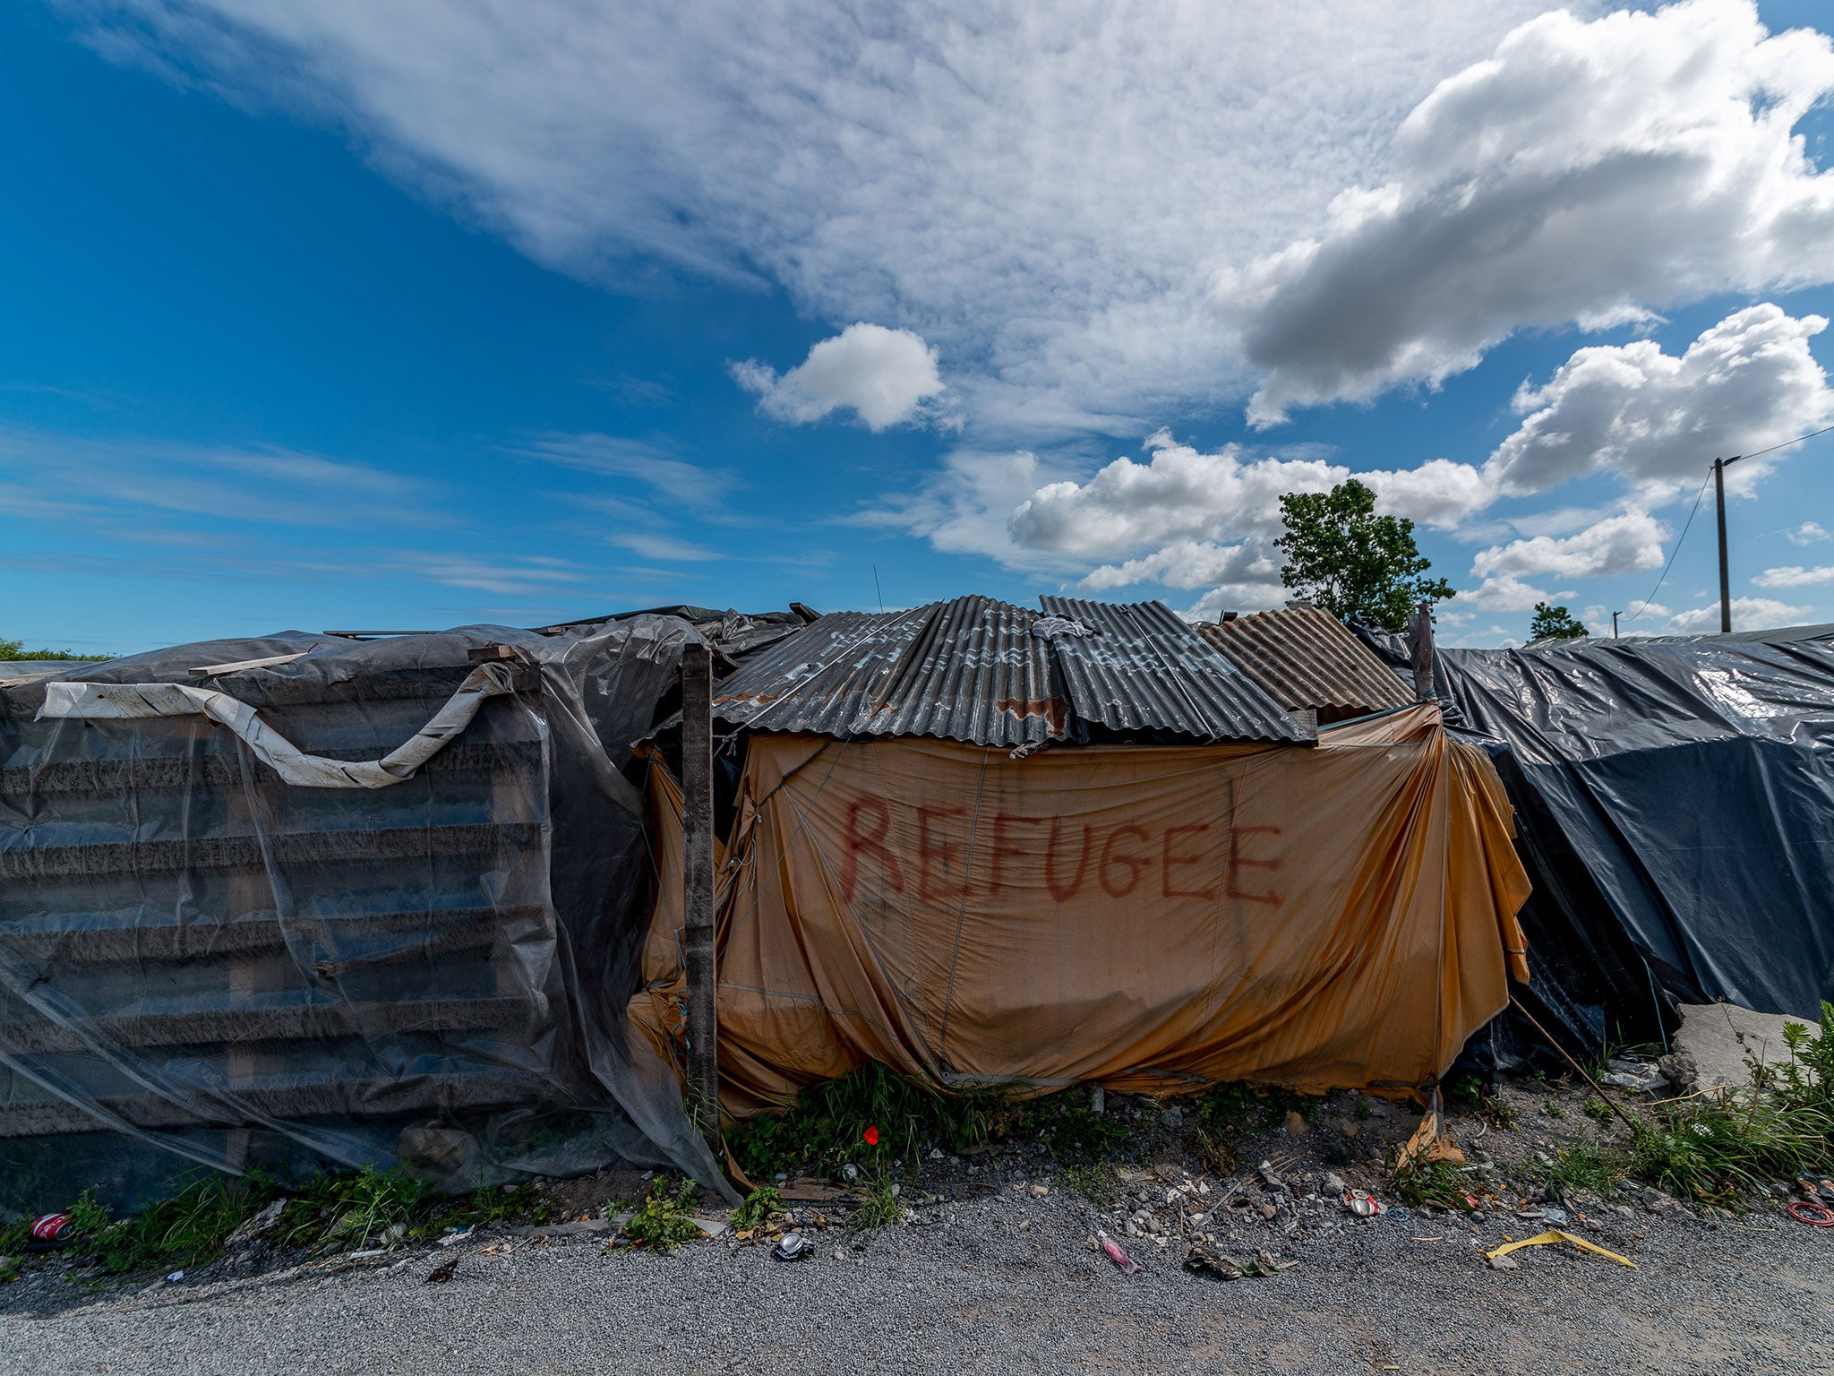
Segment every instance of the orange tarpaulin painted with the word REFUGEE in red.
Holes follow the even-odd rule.
[[[680,794],[633,1022],[679,1033]],[[1526,978],[1480,750],[1421,705],[1317,747],[754,736],[721,866],[734,1119],[882,1060],[943,1086],[1434,1081]]]

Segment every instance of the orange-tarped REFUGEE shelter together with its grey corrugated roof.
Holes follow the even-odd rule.
[[[719,684],[721,1104],[937,1086],[1432,1086],[1526,976],[1482,752],[1315,730],[1155,602],[825,616]],[[680,794],[631,1020],[679,1057]]]

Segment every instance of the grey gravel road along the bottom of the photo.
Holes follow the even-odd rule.
[[[996,1185],[934,1227],[778,1262],[702,1242],[668,1257],[603,1240],[501,1240],[447,1284],[449,1251],[132,1292],[0,1292],[18,1372],[1816,1372],[1834,1370],[1834,1229],[1777,1213],[1575,1226],[1638,1270],[1572,1248],[1484,1266],[1462,1218],[1377,1218],[1282,1249],[1267,1279],[1187,1273],[1177,1244],[1091,1253],[1095,1209]],[[1530,1231],[1489,1220],[1484,1244]],[[1638,1237],[1641,1235],[1641,1237]]]

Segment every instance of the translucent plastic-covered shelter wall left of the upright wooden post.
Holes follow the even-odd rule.
[[[0,1156],[48,1191],[97,1132],[724,1189],[622,1018],[653,879],[620,767],[693,637],[290,633],[0,684]],[[108,716],[149,686],[205,710]]]

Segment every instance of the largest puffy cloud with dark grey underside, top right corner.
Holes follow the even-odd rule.
[[[1387,180],[1322,233],[1218,275],[1267,371],[1251,418],[1438,383],[1524,327],[1834,279],[1834,174],[1794,132],[1830,90],[1827,37],[1770,37],[1751,0],[1530,20],[1407,116]]]

